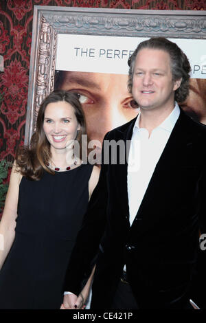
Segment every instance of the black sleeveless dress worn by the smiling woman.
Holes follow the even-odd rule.
[[[0,309],[60,309],[71,250],[89,201],[93,166],[23,177],[16,234],[0,271]]]

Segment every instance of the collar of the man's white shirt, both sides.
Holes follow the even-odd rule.
[[[137,115],[137,120],[135,122],[135,126],[133,128],[133,131],[136,129],[140,129],[139,128],[140,115],[141,115],[141,112],[139,112],[139,114]],[[172,129],[174,128],[174,124],[176,124],[176,120],[179,118],[179,115],[180,115],[179,105],[177,104],[177,102],[175,102],[174,109],[172,110],[170,115],[168,115],[168,117],[161,124],[159,124],[159,126],[157,126],[157,128],[161,128],[166,131],[172,132]]]

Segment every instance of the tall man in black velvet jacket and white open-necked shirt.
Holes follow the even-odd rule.
[[[206,229],[206,127],[175,102],[185,100],[190,80],[190,63],[175,43],[150,38],[128,64],[140,113],[105,137],[131,140],[128,165],[120,158],[102,165],[64,306],[75,308],[99,246],[91,309],[188,309],[199,230]]]

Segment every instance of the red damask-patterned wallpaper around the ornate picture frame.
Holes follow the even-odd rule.
[[[23,144],[34,5],[156,10],[206,10],[205,0],[0,0],[0,160]]]

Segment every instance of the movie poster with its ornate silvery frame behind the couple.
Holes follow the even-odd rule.
[[[204,12],[95,10],[47,6],[34,10],[25,143],[43,100],[54,89],[78,93],[88,140],[102,147],[104,135],[135,118],[138,102],[128,91],[128,58],[141,41],[163,36],[191,65],[190,94],[179,106],[206,124]]]

